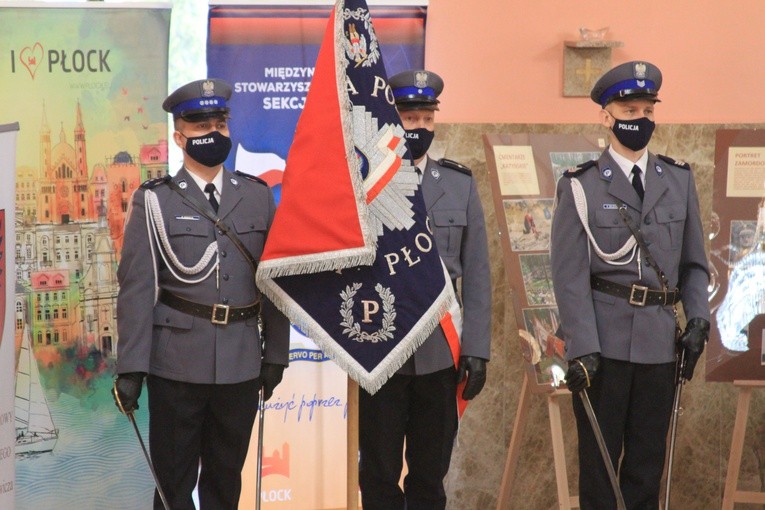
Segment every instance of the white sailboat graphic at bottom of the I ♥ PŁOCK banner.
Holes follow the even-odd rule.
[[[24,323],[16,369],[16,455],[50,452],[58,441],[40,371],[32,353],[29,325]]]

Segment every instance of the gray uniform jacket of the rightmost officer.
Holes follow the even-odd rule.
[[[709,320],[709,271],[696,185],[687,165],[673,163],[649,153],[642,208],[632,184],[608,151],[597,165],[559,179],[550,255],[568,359],[600,352],[607,358],[634,363],[675,360],[672,306],[634,306],[627,299],[590,288],[590,275],[622,285],[640,281],[656,290],[661,284],[645,256],[641,257],[639,278],[637,256],[628,264],[611,265],[595,253],[576,211],[571,179],[578,179],[584,188],[588,225],[602,251],[613,253],[631,237],[617,210],[616,199],[620,199],[666,274],[669,288],[680,289],[686,317]]]

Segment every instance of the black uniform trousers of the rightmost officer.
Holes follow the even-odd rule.
[[[674,380],[675,363],[648,365],[601,358],[600,371],[587,389],[630,510],[659,508]],[[580,508],[612,510],[616,496],[582,399],[574,395],[573,405],[579,437]]]

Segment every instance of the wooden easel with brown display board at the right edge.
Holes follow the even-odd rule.
[[[720,129],[715,140],[710,249],[712,328],[706,380],[738,388],[722,508],[763,504],[765,492],[737,488],[752,392],[765,388],[765,132]]]

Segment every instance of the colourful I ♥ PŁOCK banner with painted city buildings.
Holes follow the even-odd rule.
[[[151,473],[109,390],[124,215],[167,172],[169,5],[35,5],[0,7],[0,112],[22,126],[0,186],[17,197],[16,506],[143,510]]]

